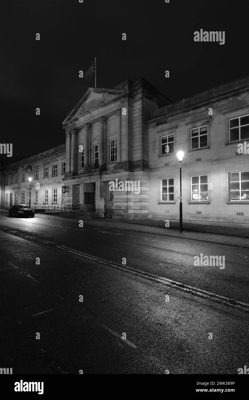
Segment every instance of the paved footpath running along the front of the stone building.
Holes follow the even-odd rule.
[[[0,208],[0,212],[8,212],[8,209]],[[46,214],[47,218],[56,219],[56,220],[67,220],[70,222],[75,222],[75,218],[64,218],[56,215]],[[36,214],[36,217],[44,217],[44,213]],[[249,239],[247,238],[238,238],[236,236],[225,236],[225,235],[217,235],[212,233],[202,233],[202,232],[188,232],[188,231],[179,231],[167,228],[158,228],[157,226],[144,226],[137,224],[130,224],[120,221],[111,220],[108,218],[99,218],[99,219],[88,219],[81,218],[83,222],[89,225],[96,225],[105,228],[119,228],[124,230],[132,230],[135,232],[144,232],[156,235],[163,236],[171,236],[175,238],[183,238],[189,240],[198,240],[201,242],[210,242],[217,244],[227,244],[229,246],[237,246],[241,248],[249,248]]]

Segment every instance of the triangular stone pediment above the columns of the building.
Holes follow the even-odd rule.
[[[126,89],[89,88],[62,124],[76,120],[96,108],[104,108],[106,104],[125,92],[127,92]]]

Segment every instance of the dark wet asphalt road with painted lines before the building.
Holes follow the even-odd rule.
[[[13,374],[237,374],[249,365],[247,315],[35,238],[119,264],[125,257],[139,270],[242,301],[247,249],[45,216],[1,214],[0,227],[28,236],[0,230],[0,367]],[[225,255],[225,268],[193,267],[200,252]]]

